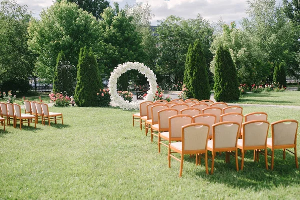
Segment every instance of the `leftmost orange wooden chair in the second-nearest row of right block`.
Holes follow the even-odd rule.
[[[192,117],[186,114],[178,114],[169,117],[169,131],[161,132],[159,134],[160,142],[158,143],[158,145],[162,144],[169,148],[172,141],[182,141],[181,127],[190,123],[192,123]],[[162,141],[168,141],[168,144],[165,144]],[[158,148],[160,147],[158,146]]]

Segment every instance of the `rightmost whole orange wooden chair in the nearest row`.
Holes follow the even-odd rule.
[[[272,138],[267,139],[267,147],[272,150],[271,169],[274,168],[274,151],[283,149],[283,159],[285,159],[285,150],[295,155],[296,168],[299,168],[297,157],[297,131],[298,121],[292,119],[280,120],[271,124]],[[287,148],[294,148],[291,152]]]

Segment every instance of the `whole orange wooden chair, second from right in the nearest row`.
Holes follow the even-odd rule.
[[[242,124],[243,137],[238,139],[237,148],[241,149],[241,170],[243,170],[244,157],[246,150],[254,150],[254,162],[258,159],[258,149],[264,149],[265,167],[268,169],[267,164],[267,147],[266,139],[270,123],[264,120],[253,120]],[[257,156],[257,158],[256,158]]]

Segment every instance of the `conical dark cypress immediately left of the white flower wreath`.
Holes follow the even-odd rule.
[[[103,88],[96,57],[92,49],[80,49],[77,86],[74,100],[80,107],[97,106],[97,93]]]

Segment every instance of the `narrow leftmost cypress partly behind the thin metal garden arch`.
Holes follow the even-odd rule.
[[[65,88],[63,87],[63,82],[67,77],[66,76],[66,71],[64,69],[58,70],[58,65],[59,61],[65,61],[65,55],[63,51],[61,50],[58,53],[57,59],[56,59],[56,67],[54,71],[54,78],[53,78],[53,92],[54,93],[59,93],[61,91],[66,91]]]

